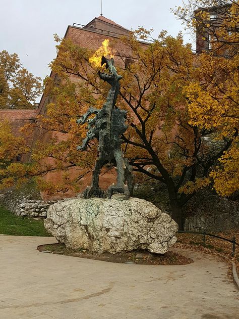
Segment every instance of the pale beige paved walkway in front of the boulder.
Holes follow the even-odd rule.
[[[53,238],[0,236],[1,319],[237,319],[227,266],[185,250],[182,266],[114,264],[40,253]]]

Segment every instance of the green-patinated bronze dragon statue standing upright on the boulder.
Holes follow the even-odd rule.
[[[99,155],[93,170],[92,184],[85,190],[84,197],[104,197],[104,191],[99,188],[99,174],[103,165],[113,163],[116,165],[117,183],[108,188],[108,198],[111,198],[114,193],[123,193],[129,198],[133,192],[133,169],[129,161],[124,158],[121,150],[123,142],[121,134],[128,128],[126,125],[127,111],[118,109],[115,106],[117,95],[120,92],[120,80],[122,76],[117,74],[113,58],[109,60],[102,57],[101,65],[104,64],[106,64],[106,69],[109,69],[109,73],[99,71],[98,74],[102,80],[111,85],[106,102],[102,109],[90,107],[77,120],[78,124],[84,124],[86,121],[88,123],[86,138],[77,149],[80,151],[86,150],[89,141],[93,139],[97,139],[99,142]],[[95,114],[95,117],[88,119],[91,114]]]

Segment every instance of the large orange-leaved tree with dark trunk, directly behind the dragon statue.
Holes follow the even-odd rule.
[[[166,186],[172,217],[183,229],[183,206],[200,188],[210,185],[212,168],[232,146],[235,136],[232,132],[214,145],[209,143],[208,136],[220,139],[222,127],[201,127],[200,123],[192,122],[190,114],[194,104],[190,87],[197,84],[206,99],[211,79],[205,77],[208,82],[200,82],[202,75],[195,70],[190,45],[183,44],[181,35],[173,38],[166,32],[147,45],[137,39],[137,36],[148,35],[149,32],[141,28],[121,39],[121,45],[131,52],[134,63],[120,67],[124,54],[117,51],[118,57],[115,57],[118,74],[123,76],[116,106],[128,110],[129,128],[122,136],[123,148],[138,175]],[[117,43],[111,45],[116,51]],[[29,130],[34,126],[47,132],[48,139],[45,143],[40,139],[32,150],[35,168],[31,172],[28,168],[26,175],[42,176],[47,171],[64,170],[63,185],[53,186],[52,181],[42,183],[42,179],[40,182],[42,189],[53,191],[54,187],[55,191],[66,191],[78,187],[80,178],[93,168],[97,156],[96,142],[90,143],[85,152],[77,151],[86,128],[79,127],[76,119],[89,106],[102,108],[108,85],[99,79],[99,67],[89,63],[93,51],[79,47],[70,39],[60,41],[57,50],[51,64],[53,77],[45,81],[45,94],[51,100],[47,116],[39,116],[37,123],[25,127]],[[52,162],[40,168],[36,163],[42,163],[44,157],[50,157]],[[72,167],[79,168],[74,178]],[[17,176],[24,174],[21,171]]]

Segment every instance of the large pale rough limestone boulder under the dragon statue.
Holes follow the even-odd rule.
[[[165,253],[176,242],[176,222],[139,198],[76,198],[51,205],[45,227],[67,247],[103,253],[147,249]]]

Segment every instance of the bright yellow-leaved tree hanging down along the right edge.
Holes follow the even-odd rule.
[[[190,123],[217,131],[214,143],[231,141],[209,174],[216,191],[230,196],[239,189],[239,2],[190,0],[190,6],[175,13],[192,30],[212,38],[211,50],[195,56],[195,80],[185,93]]]

